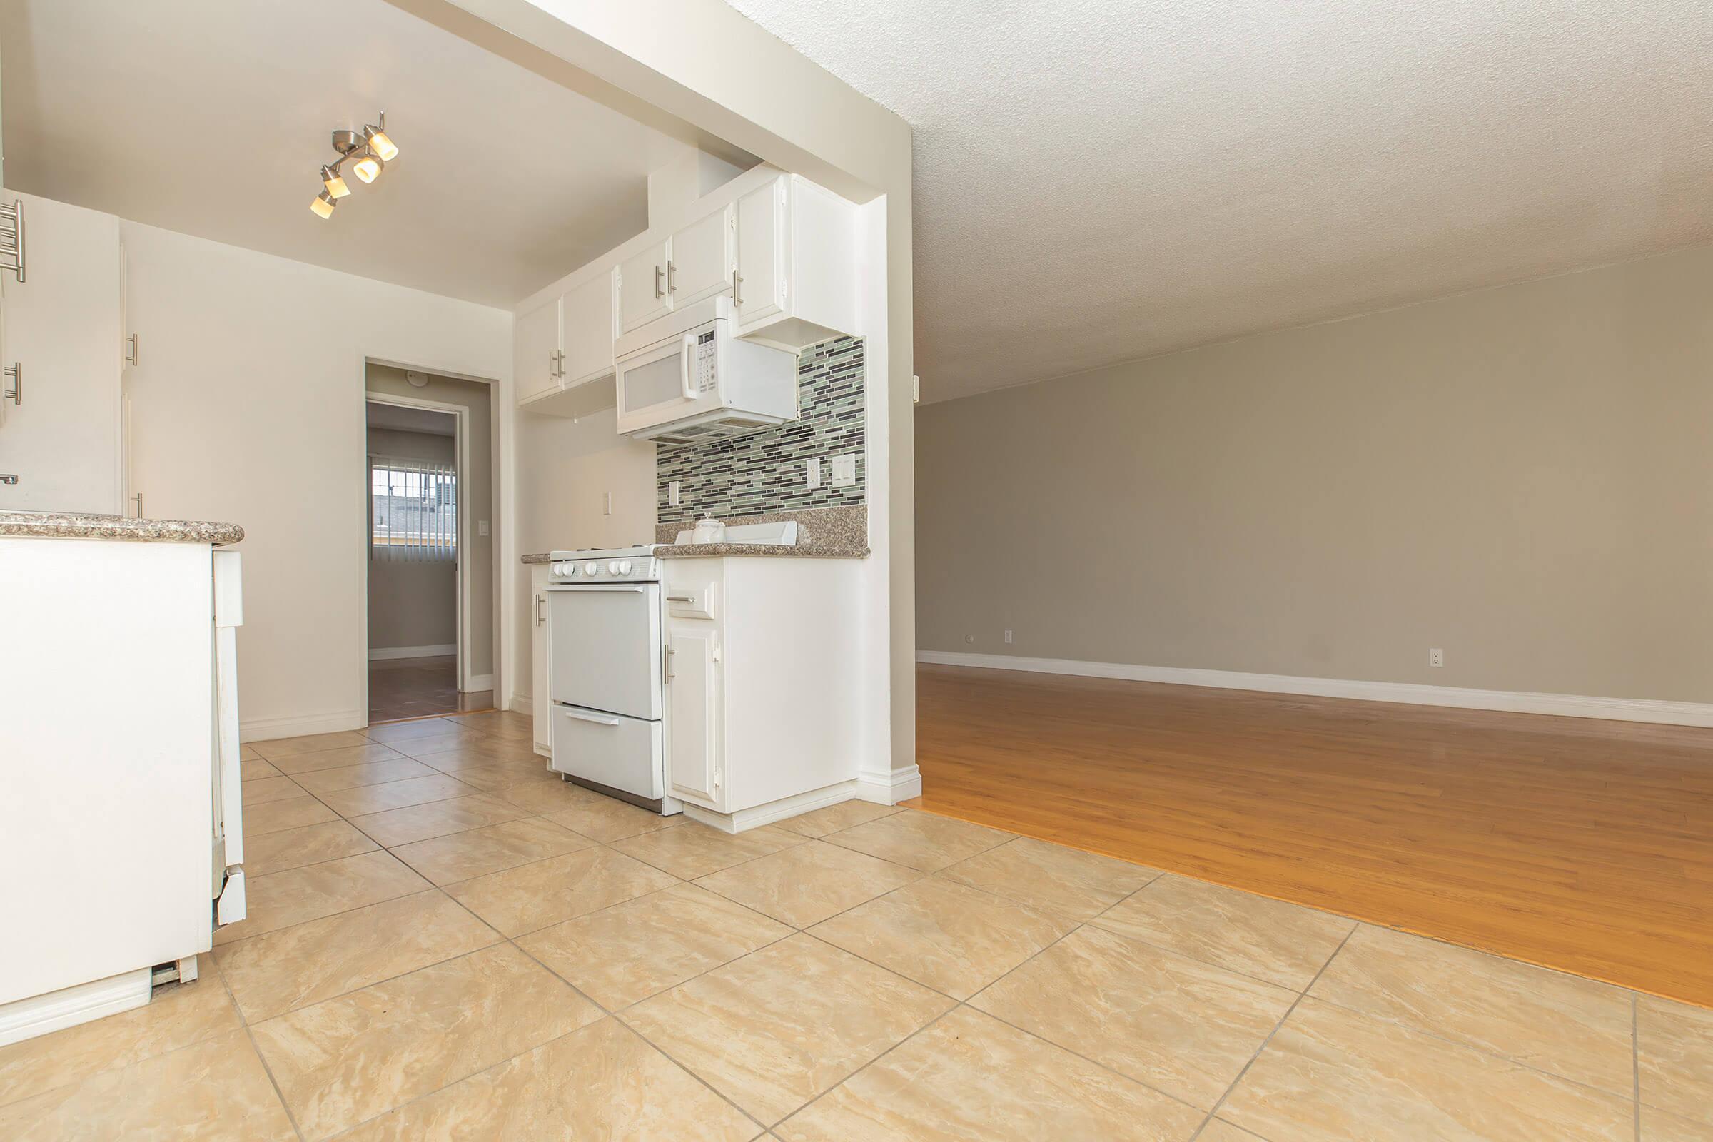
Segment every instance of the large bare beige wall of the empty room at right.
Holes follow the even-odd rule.
[[[916,473],[920,649],[1713,700],[1713,248],[925,406]]]

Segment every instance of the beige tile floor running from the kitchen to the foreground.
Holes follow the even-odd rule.
[[[245,750],[250,918],[3,1139],[1713,1140],[1713,1012],[916,810],[728,837],[486,712]]]

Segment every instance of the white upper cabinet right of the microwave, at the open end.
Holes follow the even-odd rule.
[[[856,207],[781,175],[737,200],[737,336],[793,353],[856,334]]]

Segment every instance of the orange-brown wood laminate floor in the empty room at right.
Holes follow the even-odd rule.
[[[923,666],[925,810],[1713,1007],[1713,731]]]

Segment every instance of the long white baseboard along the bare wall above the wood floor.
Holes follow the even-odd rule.
[[[1658,723],[1665,726],[1713,726],[1713,704],[1708,702],[1597,699],[1578,693],[1526,693],[1521,690],[1470,690],[1465,687],[1429,687],[1408,681],[1353,681],[1346,678],[1298,678],[1295,675],[1245,675],[1232,669],[1132,666],[1131,663],[1084,663],[1069,657],[963,654],[959,651],[916,651],[916,661],[939,663],[942,666],[978,666],[983,669],[1023,669],[1038,675],[1079,675],[1083,678],[1165,681],[1179,687],[1261,690],[1264,693],[1307,693],[1322,699],[1357,699],[1358,702],[1403,702],[1408,705],[1449,705],[1453,709],[1466,711],[1554,714],[1559,717],[1603,717],[1609,721]]]

